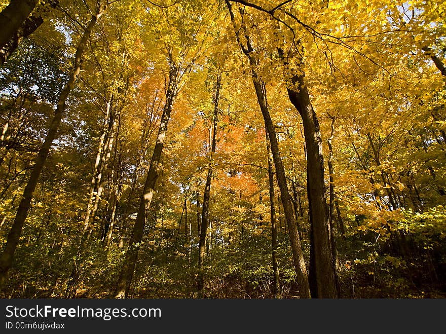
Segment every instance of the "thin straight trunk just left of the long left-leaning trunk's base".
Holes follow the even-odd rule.
[[[270,190],[270,211],[271,211],[271,246],[273,260],[273,295],[274,298],[280,298],[280,275],[277,264],[277,226],[276,226],[276,198],[274,195],[274,173],[273,173],[273,152],[271,152],[270,138],[268,132],[267,153],[268,153],[268,182]]]

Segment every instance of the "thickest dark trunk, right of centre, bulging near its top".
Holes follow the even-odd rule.
[[[284,59],[281,50],[279,50],[279,55]],[[286,59],[284,62],[287,65]],[[300,73],[291,75],[287,91],[289,100],[301,115],[307,149],[307,190],[312,229],[310,234],[314,244],[314,252],[310,251],[310,271],[314,268],[315,272],[312,275],[317,285],[316,288],[312,288],[312,292],[317,290],[317,298],[337,298],[328,208],[325,200],[324,162],[319,122],[310,102],[303,69],[299,68],[296,72]],[[313,295],[314,297],[316,296]]]

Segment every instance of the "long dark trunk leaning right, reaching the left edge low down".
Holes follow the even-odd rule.
[[[42,172],[45,161],[48,157],[51,144],[56,136],[57,129],[62,119],[62,114],[65,110],[65,102],[68,98],[70,91],[73,89],[73,87],[75,87],[76,80],[79,76],[79,72],[81,71],[82,55],[84,53],[85,46],[87,45],[91,31],[93,30],[96,21],[103,14],[104,10],[105,9],[103,7],[97,10],[96,14],[91,18],[87,28],[84,31],[84,34],[82,35],[81,41],[79,42],[76,50],[74,67],[70,73],[68,82],[64,86],[59,96],[56,112],[54,114],[54,118],[53,121],[51,122],[51,126],[47,133],[45,141],[39,151],[38,156],[35,158],[35,163],[29,176],[29,181],[26,184],[26,187],[23,191],[22,199],[20,201],[13,226],[8,235],[8,240],[5,249],[3,251],[2,257],[0,258],[0,286],[3,285],[3,283],[6,281],[8,269],[12,265],[14,252],[19,242],[23,224],[25,222],[28,210],[31,206],[32,194],[39,180],[39,176]]]

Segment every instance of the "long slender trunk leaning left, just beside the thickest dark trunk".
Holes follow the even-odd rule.
[[[231,15],[231,21],[234,25],[234,31],[236,34],[237,42],[242,49],[243,53],[249,59],[251,73],[252,73],[252,82],[254,84],[255,94],[257,96],[257,102],[261,109],[264,121],[265,128],[270,138],[271,151],[273,153],[274,165],[276,167],[276,178],[277,183],[279,184],[280,189],[280,198],[282,201],[283,211],[285,213],[285,219],[288,226],[288,234],[291,243],[291,250],[293,256],[294,269],[296,273],[296,280],[299,284],[300,296],[301,298],[311,298],[310,295],[310,286],[308,284],[308,274],[307,269],[305,267],[304,261],[304,253],[301,247],[301,241],[299,238],[299,233],[297,229],[297,224],[294,218],[294,209],[291,201],[291,196],[289,195],[288,185],[286,183],[286,175],[285,169],[282,164],[282,159],[279,152],[279,143],[277,141],[276,130],[273,126],[273,121],[271,119],[268,104],[265,93],[265,85],[261,79],[259,79],[257,75],[257,61],[255,59],[254,49],[251,46],[250,39],[246,27],[242,23],[242,28],[244,30],[244,38],[246,40],[246,44],[241,43],[240,39],[240,30],[237,28],[234,14],[232,12],[232,6],[228,0],[226,0],[226,5],[229,9],[229,13]]]

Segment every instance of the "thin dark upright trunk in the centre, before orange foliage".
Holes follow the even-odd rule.
[[[198,276],[197,276],[197,288],[199,294],[203,290],[203,262],[206,256],[206,236],[209,221],[209,198],[211,191],[211,181],[212,181],[212,159],[216,148],[216,136],[217,136],[217,123],[218,123],[218,102],[220,100],[220,85],[221,77],[218,73],[216,83],[215,83],[215,96],[214,96],[214,110],[213,110],[213,122],[212,122],[212,139],[211,139],[211,150],[209,152],[209,168],[206,177],[206,187],[204,189],[203,195],[203,206],[201,213],[201,232],[200,232],[200,246],[198,254]],[[209,240],[210,242],[210,240]],[[209,247],[210,249],[210,247]]]

